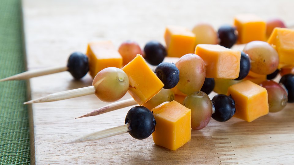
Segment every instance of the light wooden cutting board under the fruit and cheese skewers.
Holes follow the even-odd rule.
[[[208,22],[217,29],[232,24],[233,16],[254,13],[282,18],[291,24],[293,1],[135,1],[135,0],[23,0],[28,69],[66,65],[70,53],[86,51],[87,43],[128,39],[143,48],[150,40],[164,43],[166,25],[192,28]],[[30,80],[32,99],[54,92],[90,86],[68,72]],[[210,94],[213,97],[214,94]],[[127,94],[121,100],[130,98]],[[192,130],[191,141],[176,151],[136,140],[129,134],[99,141],[65,144],[95,131],[123,125],[123,108],[100,116],[74,119],[107,103],[94,95],[29,106],[32,163],[36,164],[235,164],[294,162],[294,105],[251,123],[232,118],[211,119],[202,130]]]

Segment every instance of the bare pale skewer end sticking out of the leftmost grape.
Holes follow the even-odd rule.
[[[39,103],[39,102],[50,102],[50,101],[58,101],[64,100],[74,97],[85,96],[89,94],[95,94],[95,87],[94,86],[87,86],[84,88],[78,88],[74,90],[66,90],[62,92],[57,92],[54,94],[49,94],[44,97],[40,97],[31,101],[27,101],[24,104],[32,104],[32,103]]]

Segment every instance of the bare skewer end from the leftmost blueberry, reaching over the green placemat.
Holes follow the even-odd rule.
[[[7,80],[23,80],[23,79],[30,79],[32,77],[38,77],[42,75],[49,75],[53,73],[58,73],[62,71],[67,71],[68,68],[66,66],[62,67],[54,67],[54,68],[46,68],[46,69],[38,69],[38,70],[32,70],[32,71],[25,71],[22,73],[19,73],[17,75],[13,75],[4,79],[0,79],[1,81],[7,81]]]

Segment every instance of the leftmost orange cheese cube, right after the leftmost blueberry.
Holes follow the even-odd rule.
[[[123,58],[111,41],[88,43],[86,55],[89,58],[89,73],[93,78],[104,68],[121,68],[123,65]]]

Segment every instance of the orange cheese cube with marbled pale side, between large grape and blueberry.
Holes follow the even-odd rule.
[[[199,44],[195,54],[205,62],[207,78],[236,79],[239,76],[240,51],[220,45]]]

